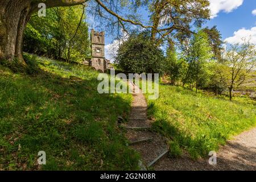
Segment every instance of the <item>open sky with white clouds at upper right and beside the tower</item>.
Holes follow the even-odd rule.
[[[209,1],[212,16],[204,26],[216,25],[223,40],[228,43],[237,43],[241,38],[250,37],[251,42],[256,44],[256,0]],[[142,18],[147,19],[146,11],[142,11]],[[108,35],[108,32],[106,34]],[[106,36],[105,43],[106,58],[111,60],[113,55],[109,47],[115,47],[116,42],[112,36]]]

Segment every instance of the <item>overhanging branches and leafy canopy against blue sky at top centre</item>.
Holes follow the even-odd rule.
[[[96,0],[90,5],[90,12],[101,18],[101,24],[109,29],[116,26],[129,32],[138,28],[129,26],[130,23],[148,28],[151,31],[150,38],[156,44],[184,40],[193,34],[193,26],[201,26],[210,16],[208,0],[126,0],[120,3]],[[141,18],[141,9],[148,11],[149,21],[145,22]]]

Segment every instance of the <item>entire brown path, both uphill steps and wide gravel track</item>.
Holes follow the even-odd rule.
[[[130,88],[137,87],[128,81]],[[138,87],[137,87],[138,88]],[[256,128],[228,140],[217,152],[217,164],[208,159],[191,160],[187,154],[168,158],[166,139],[151,131],[152,121],[147,119],[147,102],[142,93],[133,93],[126,137],[142,157],[142,169],[155,170],[256,170]]]

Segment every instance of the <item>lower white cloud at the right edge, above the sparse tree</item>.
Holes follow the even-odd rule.
[[[234,32],[232,37],[226,38],[225,41],[230,44],[241,43],[243,39],[250,40],[251,43],[256,44],[256,27],[251,29],[241,28]]]

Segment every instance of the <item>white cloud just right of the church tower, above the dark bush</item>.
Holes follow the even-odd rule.
[[[129,38],[127,32],[122,32],[122,37],[119,40],[114,40],[113,43],[110,43],[105,46],[105,57],[111,62],[114,61],[114,57],[117,55],[119,46]]]

